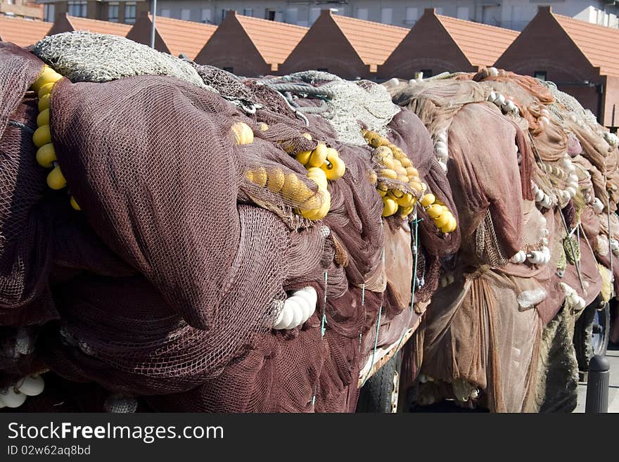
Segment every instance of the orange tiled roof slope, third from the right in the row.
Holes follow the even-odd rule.
[[[409,30],[404,27],[373,23],[347,16],[331,15],[346,36],[352,48],[357,51],[365,65],[376,70],[406,37]]]

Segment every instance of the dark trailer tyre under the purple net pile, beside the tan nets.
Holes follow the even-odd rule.
[[[371,376],[359,391],[357,412],[397,412],[401,354],[397,352]]]

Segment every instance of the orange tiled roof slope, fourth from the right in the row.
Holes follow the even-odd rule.
[[[236,15],[236,19],[262,58],[272,66],[283,63],[308,30],[307,27],[249,16]]]

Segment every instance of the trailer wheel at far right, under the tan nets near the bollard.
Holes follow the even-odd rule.
[[[580,315],[574,327],[574,348],[578,368],[589,370],[589,361],[596,354],[606,354],[610,335],[611,311],[608,303],[593,302]]]

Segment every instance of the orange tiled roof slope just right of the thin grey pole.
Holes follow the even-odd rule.
[[[151,21],[153,20],[151,15],[148,15],[148,18],[151,18]],[[179,56],[179,54],[184,53],[193,59],[215,33],[217,26],[157,16],[155,29],[165,41],[170,54]]]

